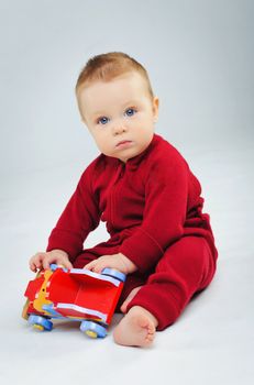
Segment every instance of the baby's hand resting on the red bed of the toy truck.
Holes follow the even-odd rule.
[[[122,253],[99,256],[97,260],[84,266],[84,268],[95,273],[101,273],[106,267],[115,268],[124,274],[130,274],[137,270],[136,265]]]

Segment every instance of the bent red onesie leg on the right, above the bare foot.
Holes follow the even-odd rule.
[[[128,305],[141,306],[158,320],[157,330],[174,323],[195,293],[206,288],[216,272],[207,241],[184,237],[169,246],[155,272]]]

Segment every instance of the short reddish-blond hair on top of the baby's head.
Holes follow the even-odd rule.
[[[91,57],[78,76],[75,87],[76,96],[78,96],[78,91],[81,88],[90,85],[93,81],[110,81],[120,75],[131,73],[133,70],[137,72],[145,79],[150,97],[153,99],[154,94],[146,69],[133,57],[122,52],[109,52],[107,54]]]

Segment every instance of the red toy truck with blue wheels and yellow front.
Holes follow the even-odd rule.
[[[101,274],[85,268],[51,265],[30,280],[23,318],[40,330],[52,330],[51,319],[80,321],[89,337],[106,337],[125,275],[112,268]]]

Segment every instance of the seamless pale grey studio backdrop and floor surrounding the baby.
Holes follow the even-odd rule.
[[[126,382],[137,363],[140,384],[156,371],[175,384],[252,383],[253,16],[251,0],[0,0],[1,383],[43,383],[38,351],[62,383]],[[74,89],[86,61],[109,51],[146,67],[156,131],[200,178],[220,252],[211,288],[147,351],[117,346],[111,333],[85,342],[68,326],[42,338],[20,319],[27,260],[99,154]],[[106,239],[100,226],[86,245]]]

